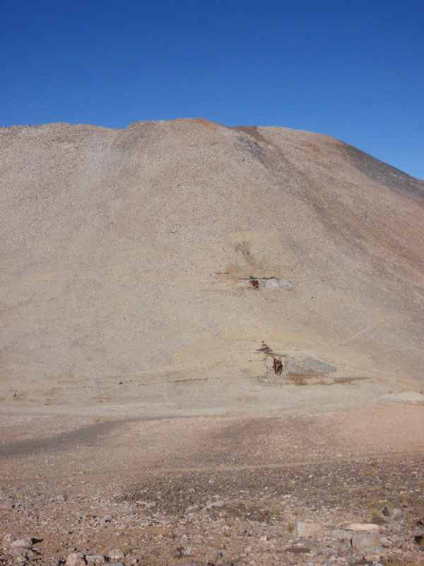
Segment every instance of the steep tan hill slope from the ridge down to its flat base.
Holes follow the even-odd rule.
[[[422,379],[424,183],[341,141],[199,119],[16,126],[0,180],[11,403],[40,403],[40,383],[55,405],[170,379],[143,396],[167,402],[180,379],[259,375],[261,340],[340,375]]]

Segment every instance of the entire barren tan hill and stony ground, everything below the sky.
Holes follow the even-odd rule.
[[[204,120],[0,156],[1,566],[424,564],[423,181]]]

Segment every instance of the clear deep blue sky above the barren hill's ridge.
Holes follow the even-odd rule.
[[[5,0],[1,20],[1,126],[285,126],[424,179],[423,0]]]

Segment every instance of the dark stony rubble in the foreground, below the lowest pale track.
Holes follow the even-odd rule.
[[[424,563],[424,456],[1,488],[2,566]]]

